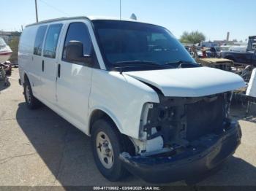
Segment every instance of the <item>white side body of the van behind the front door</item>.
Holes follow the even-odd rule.
[[[84,22],[84,20],[83,20]],[[45,58],[43,55],[34,55],[34,41],[37,34],[37,29],[39,26],[49,26],[52,24],[62,23],[61,33],[59,34],[59,41],[56,50],[56,58]],[[56,95],[56,80],[57,80],[57,67],[59,63],[59,56],[61,55],[62,48],[66,31],[64,30],[67,26],[67,21],[62,22],[52,22],[52,23],[43,23],[42,25],[29,26],[25,28],[22,36],[20,37],[19,52],[18,52],[18,63],[19,63],[19,72],[20,72],[20,82],[23,85],[25,74],[29,77],[31,83],[31,89],[34,96],[39,99],[43,104],[48,106],[50,109],[53,109],[54,112],[59,114],[61,117],[75,125],[83,132],[85,132],[86,124],[79,122],[75,117],[70,116],[67,112],[64,112],[63,109],[60,109],[60,106],[57,102]],[[66,27],[67,29],[67,27]],[[45,36],[47,31],[45,32]],[[42,44],[44,47],[45,41]],[[45,73],[42,72],[42,60],[45,61]],[[73,68],[78,67],[75,64],[72,64]],[[50,72],[50,73],[48,73]],[[83,76],[84,74],[82,74]],[[70,84],[69,84],[70,85]],[[73,85],[73,83],[71,83]],[[71,86],[72,87],[72,86]],[[71,88],[70,87],[70,88]],[[69,95],[65,95],[68,98]],[[87,109],[87,108],[86,108]],[[73,111],[74,112],[74,111]],[[75,113],[75,112],[74,112]],[[86,115],[85,115],[86,118]]]

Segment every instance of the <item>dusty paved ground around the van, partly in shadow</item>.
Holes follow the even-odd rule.
[[[241,146],[221,170],[197,185],[256,185],[256,120],[245,117],[241,106],[232,115],[241,124]],[[108,182],[94,165],[87,136],[45,106],[26,108],[14,69],[10,86],[0,85],[0,186],[124,184],[148,185],[135,176]]]

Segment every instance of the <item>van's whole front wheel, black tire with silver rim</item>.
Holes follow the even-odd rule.
[[[103,145],[100,143],[99,138],[103,142],[104,140],[108,142],[105,142],[105,145]],[[107,147],[105,147],[106,145]],[[112,121],[100,119],[94,122],[91,132],[91,149],[97,168],[106,179],[116,182],[129,175],[128,171],[121,164],[121,160],[119,160],[119,154],[122,152],[133,152],[132,144],[127,136],[119,133],[116,125]],[[102,153],[100,150],[105,153],[103,157],[100,154]],[[108,154],[104,150],[107,150]],[[106,158],[108,160],[105,160]]]

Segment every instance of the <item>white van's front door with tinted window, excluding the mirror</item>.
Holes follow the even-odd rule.
[[[80,130],[85,130],[92,69],[86,63],[67,61],[66,48],[69,41],[82,42],[83,54],[91,54],[92,43],[86,23],[68,23],[56,81],[57,106],[69,117],[70,122]]]

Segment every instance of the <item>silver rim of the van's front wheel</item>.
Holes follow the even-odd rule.
[[[96,139],[97,154],[105,168],[113,166],[114,155],[110,139],[104,132],[99,132]]]

